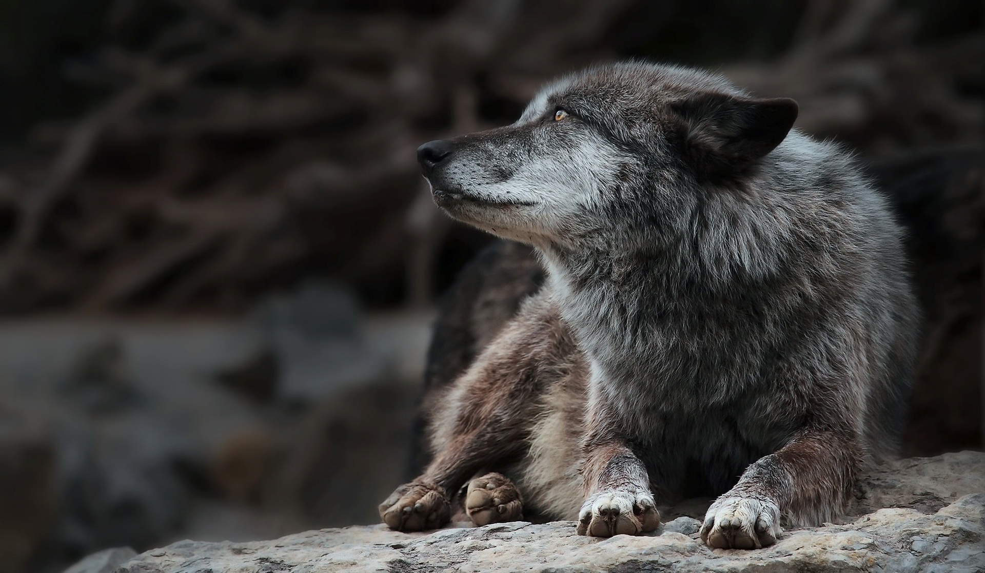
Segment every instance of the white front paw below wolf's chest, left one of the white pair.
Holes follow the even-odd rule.
[[[611,538],[638,536],[660,525],[660,514],[649,491],[610,489],[588,496],[578,512],[578,535]]]

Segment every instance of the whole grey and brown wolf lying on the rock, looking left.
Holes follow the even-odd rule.
[[[709,493],[702,541],[758,548],[781,521],[843,511],[896,448],[919,312],[886,199],[797,113],[628,62],[559,79],[512,125],[421,146],[438,207],[529,248],[543,277],[515,281],[507,308],[483,281],[536,273],[507,265],[471,286],[471,323],[490,328],[439,324],[432,458],[383,522],[441,527],[463,489],[477,525],[639,535],[658,503]]]

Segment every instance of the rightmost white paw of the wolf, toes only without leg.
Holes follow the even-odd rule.
[[[780,508],[763,498],[725,494],[711,504],[701,525],[701,541],[718,549],[759,549],[779,537]]]

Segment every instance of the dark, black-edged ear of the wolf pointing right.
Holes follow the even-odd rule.
[[[797,119],[788,97],[701,94],[672,104],[685,121],[685,145],[699,168],[743,170],[780,145]]]

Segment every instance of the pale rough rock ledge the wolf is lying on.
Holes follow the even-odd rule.
[[[681,517],[652,536],[579,537],[573,522],[525,522],[401,534],[383,526],[311,531],[275,541],[179,541],[119,573],[329,571],[964,571],[985,570],[985,453],[887,464],[863,480],[844,525],[788,531],[755,551],[712,550]]]

